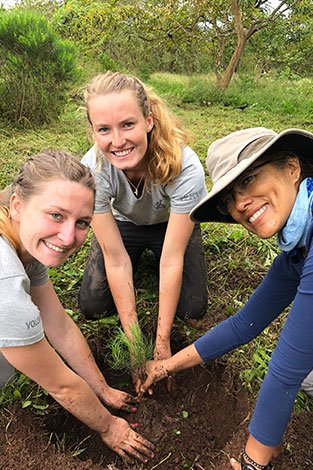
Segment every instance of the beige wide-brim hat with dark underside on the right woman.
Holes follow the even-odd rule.
[[[231,222],[230,215],[216,207],[227,186],[231,185],[266,151],[289,150],[301,159],[313,161],[313,134],[301,129],[287,129],[279,134],[265,127],[232,132],[210,145],[206,166],[213,182],[211,191],[190,212],[194,222]]]

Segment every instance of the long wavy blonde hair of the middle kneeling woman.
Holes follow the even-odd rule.
[[[146,184],[166,184],[181,172],[182,147],[187,145],[187,134],[170,113],[163,100],[137,77],[120,72],[106,72],[94,77],[84,90],[87,117],[89,101],[97,96],[131,90],[135,93],[145,119],[152,113],[154,126],[148,133]],[[101,166],[101,155],[97,154]]]

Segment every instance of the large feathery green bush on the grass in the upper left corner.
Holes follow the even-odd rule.
[[[48,21],[28,11],[0,12],[0,113],[4,120],[41,124],[58,116],[74,78],[75,48]]]

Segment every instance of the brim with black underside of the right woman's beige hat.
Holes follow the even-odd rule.
[[[221,214],[216,207],[218,199],[227,186],[233,183],[249,166],[260,158],[267,150],[290,150],[303,160],[313,160],[313,134],[301,129],[287,129],[273,137],[264,147],[241,160],[232,170],[220,178],[190,212],[194,222],[227,222],[236,223],[230,215]]]

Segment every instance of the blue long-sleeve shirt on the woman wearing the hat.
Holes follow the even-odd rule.
[[[280,253],[245,306],[195,341],[204,362],[248,343],[292,301],[263,381],[249,431],[276,447],[286,430],[296,394],[313,369],[313,225],[305,258]]]

